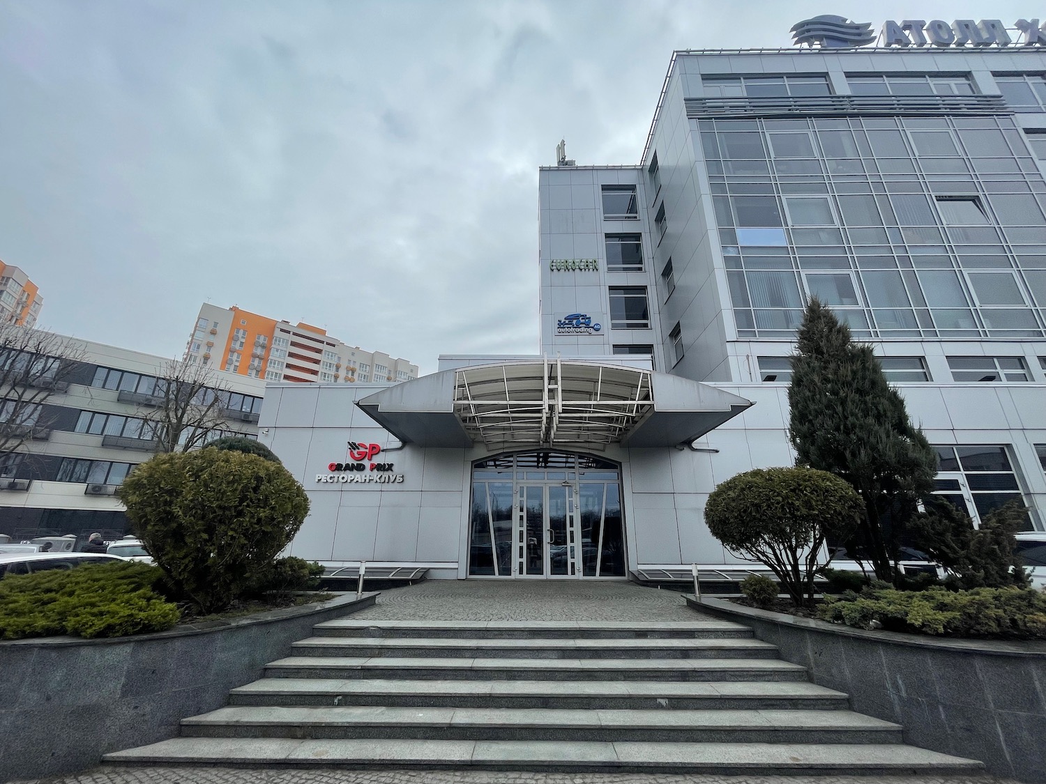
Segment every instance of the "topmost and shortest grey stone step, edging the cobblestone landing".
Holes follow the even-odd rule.
[[[693,639],[753,637],[732,621],[360,621],[341,618],[318,623],[318,637],[418,637],[427,640],[471,638],[485,640],[544,639]]]

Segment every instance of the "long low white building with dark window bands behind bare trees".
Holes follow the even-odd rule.
[[[0,533],[16,541],[68,533],[86,539],[94,531],[119,538],[129,528],[116,488],[152,457],[143,420],[161,399],[158,387],[170,360],[74,338],[58,341],[67,349],[63,355],[74,359],[63,360],[54,372],[62,381],[48,386],[47,377],[35,379],[49,396],[15,423],[30,429],[25,443],[0,456]],[[12,359],[0,355],[0,362]],[[220,434],[257,438],[265,383],[219,370],[212,377],[227,422]],[[0,429],[8,425],[0,408]]]

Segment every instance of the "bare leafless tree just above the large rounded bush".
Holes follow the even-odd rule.
[[[203,365],[172,360],[157,374],[156,388],[141,403],[143,435],[156,451],[188,452],[229,431],[230,389]]]

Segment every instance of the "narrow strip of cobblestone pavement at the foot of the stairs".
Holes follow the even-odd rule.
[[[992,776],[668,776],[483,770],[258,770],[234,767],[99,767],[33,784],[1017,784]]]

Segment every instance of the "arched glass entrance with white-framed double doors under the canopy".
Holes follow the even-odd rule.
[[[624,577],[620,466],[527,452],[473,465],[472,577]]]

